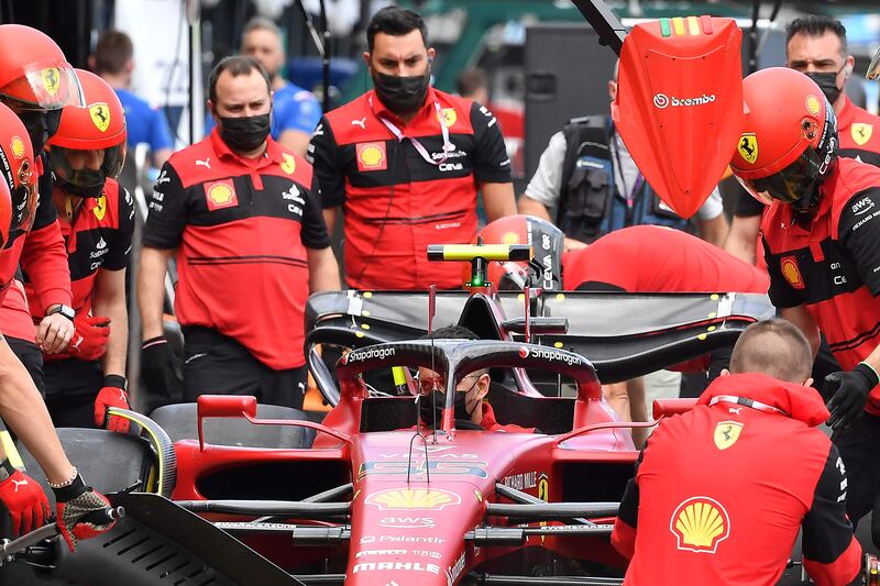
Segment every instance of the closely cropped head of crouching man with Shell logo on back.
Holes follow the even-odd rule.
[[[813,349],[796,325],[783,319],[752,323],[736,341],[730,372],[762,373],[788,383],[803,383],[813,368]]]

